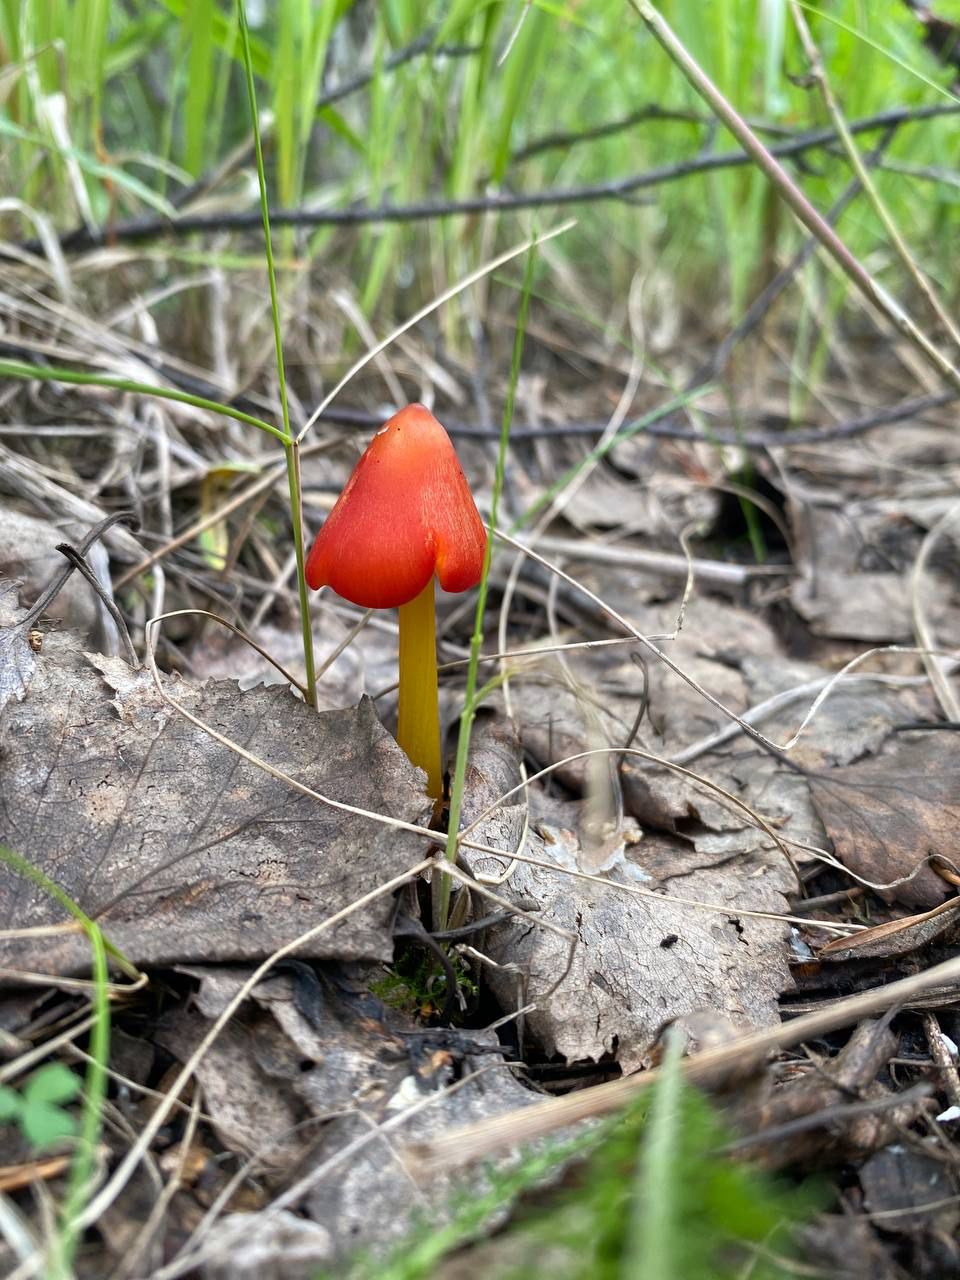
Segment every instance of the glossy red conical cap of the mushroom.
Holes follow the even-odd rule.
[[[486,530],[449,435],[408,404],[366,448],[307,557],[315,590],[332,586],[364,608],[420,595],[436,573],[444,591],[480,581]]]

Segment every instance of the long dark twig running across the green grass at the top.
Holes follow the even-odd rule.
[[[869,133],[876,129],[890,128],[891,125],[933,119],[941,115],[955,115],[957,113],[960,113],[960,105],[956,104],[897,108],[865,116],[861,120],[854,120],[850,123],[850,131],[851,133]],[[771,147],[768,155],[777,160],[786,160],[803,155],[805,151],[832,146],[837,141],[837,133],[833,129],[810,129],[806,133],[797,134],[788,142],[781,142]],[[710,155],[698,154],[687,160],[681,160],[678,164],[660,165],[657,169],[648,169],[628,178],[618,178],[612,182],[594,183],[584,187],[559,187],[526,193],[503,192],[490,196],[471,196],[466,200],[422,201],[413,205],[381,205],[375,209],[366,205],[355,205],[352,209],[276,209],[270,211],[270,221],[274,227],[358,227],[369,223],[406,223],[453,218],[460,214],[503,214],[515,212],[521,209],[584,205],[602,200],[622,200],[625,196],[630,196],[637,191],[646,191],[668,182],[677,182],[691,174],[712,173],[719,169],[736,169],[753,163],[753,157],[741,150]],[[175,220],[150,215],[97,230],[77,228],[77,230],[64,236],[60,243],[65,252],[79,252],[90,248],[100,248],[108,241],[111,244],[136,243],[163,236],[252,230],[253,228],[259,228],[260,224],[260,214],[253,211],[239,214],[186,214]],[[28,241],[19,247],[28,253],[38,253],[42,250],[42,246],[37,241]]]

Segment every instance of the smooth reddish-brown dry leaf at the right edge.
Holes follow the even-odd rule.
[[[886,884],[913,879],[890,896],[914,909],[940,905],[950,886],[931,854],[956,847],[960,741],[955,733],[896,733],[881,755],[809,778],[814,804],[837,856],[858,876]]]

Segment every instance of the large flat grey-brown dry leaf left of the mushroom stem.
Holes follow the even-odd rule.
[[[36,662],[28,696],[0,718],[0,838],[134,963],[261,957],[422,856],[417,837],[344,817],[246,763],[119,659],[87,658],[51,636]],[[369,701],[317,716],[285,689],[169,687],[325,796],[412,823],[430,815],[420,776]],[[390,910],[388,900],[370,905],[305,954],[389,957]],[[35,884],[0,872],[0,918],[27,928],[63,916]],[[0,945],[8,968],[67,973],[87,963],[73,931]]]

